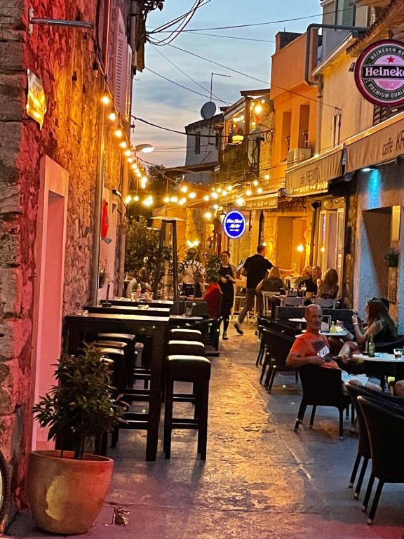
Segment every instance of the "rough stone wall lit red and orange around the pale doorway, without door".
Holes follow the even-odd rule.
[[[114,9],[123,0],[114,3]],[[127,4],[127,3],[126,3]],[[0,450],[12,481],[8,521],[23,505],[22,479],[32,429],[32,313],[39,164],[46,154],[69,173],[64,313],[89,299],[102,76],[93,32],[34,26],[37,17],[95,21],[95,0],[0,0]],[[125,13],[125,12],[124,12]],[[112,35],[112,39],[114,36]],[[42,130],[25,115],[27,68],[43,80]],[[121,151],[105,141],[105,185],[118,187]]]

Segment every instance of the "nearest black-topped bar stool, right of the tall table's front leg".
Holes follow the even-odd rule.
[[[163,451],[166,458],[171,455],[171,433],[173,429],[198,430],[198,454],[206,459],[208,439],[210,361],[203,356],[169,355],[166,373],[166,404],[164,412]],[[184,402],[183,394],[174,393],[174,382],[193,382],[195,402],[194,418],[173,418],[174,402]]]

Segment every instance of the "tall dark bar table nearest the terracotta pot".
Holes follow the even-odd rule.
[[[146,460],[156,460],[163,384],[163,353],[168,333],[168,316],[151,317],[143,313],[112,314],[111,312],[67,314],[63,331],[64,348],[68,354],[79,352],[86,333],[133,333],[152,337],[149,413],[145,415],[145,430],[147,430]]]

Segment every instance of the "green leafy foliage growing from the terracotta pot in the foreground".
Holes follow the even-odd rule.
[[[48,440],[60,436],[82,459],[91,437],[110,432],[125,411],[112,397],[111,371],[102,352],[86,346],[78,356],[65,354],[55,368],[54,385],[34,406],[34,418],[49,427]]]

